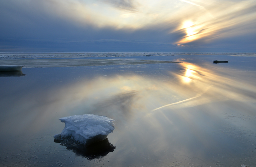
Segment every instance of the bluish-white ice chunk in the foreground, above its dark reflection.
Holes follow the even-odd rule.
[[[115,129],[114,119],[93,114],[63,117],[60,121],[65,123],[65,127],[54,135],[54,139],[60,141],[70,138],[82,144],[97,142],[106,139]]]

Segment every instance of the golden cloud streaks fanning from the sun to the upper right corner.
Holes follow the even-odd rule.
[[[187,19],[193,20],[194,25],[184,28],[187,35],[177,43],[186,44],[198,40],[204,43],[214,41],[216,38],[246,34],[248,31],[255,32],[255,29],[252,28],[256,17],[256,12],[253,10],[255,9],[255,2],[228,2],[223,3],[222,7],[216,5],[219,4],[212,5],[209,8],[216,19],[207,17],[203,11],[198,13],[191,12],[190,17],[187,17]]]

